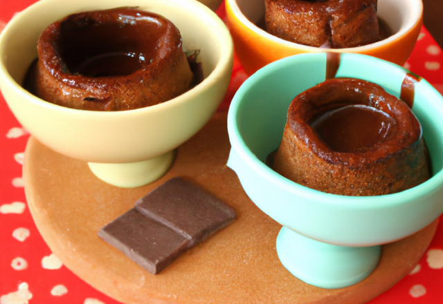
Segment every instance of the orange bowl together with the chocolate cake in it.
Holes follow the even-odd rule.
[[[326,51],[402,66],[422,28],[422,12],[421,0],[226,0],[235,52],[249,75],[284,57]]]

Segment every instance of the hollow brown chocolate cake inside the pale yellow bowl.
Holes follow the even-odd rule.
[[[38,56],[36,94],[82,110],[159,104],[188,91],[193,77],[174,24],[132,8],[81,12],[51,24]]]

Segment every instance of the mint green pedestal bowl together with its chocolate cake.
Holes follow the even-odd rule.
[[[327,53],[295,55],[237,91],[228,167],[283,225],[282,265],[347,287],[371,274],[380,245],[442,214],[442,115],[442,95],[401,66],[345,53],[331,71]]]

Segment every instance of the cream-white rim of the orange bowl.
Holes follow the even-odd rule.
[[[369,50],[374,50],[381,46],[385,46],[386,44],[391,44],[394,41],[398,41],[399,39],[401,39],[401,37],[404,37],[405,35],[408,34],[408,32],[413,30],[413,28],[417,26],[417,23],[420,23],[422,21],[423,17],[422,0],[407,0],[407,1],[409,1],[409,3],[411,3],[414,7],[412,10],[410,10],[413,13],[413,16],[410,17],[410,20],[408,21],[408,23],[406,23],[406,26],[401,28],[399,32],[396,32],[394,35],[391,35],[386,39],[374,42],[372,44],[367,44],[365,46],[357,46],[354,48],[317,48],[314,46],[305,46],[304,44],[296,44],[295,42],[287,41],[282,38],[271,35],[269,34],[269,32],[262,30],[262,28],[259,28],[254,23],[249,21],[249,19],[246,18],[246,16],[243,14],[242,10],[240,10],[237,4],[237,0],[226,0],[226,6],[230,7],[230,10],[232,10],[233,12],[233,16],[237,18],[237,20],[240,23],[242,23],[243,26],[246,26],[246,28],[252,30],[255,34],[259,35],[260,37],[272,41],[275,44],[279,44],[280,46],[296,50],[303,50],[305,52],[364,53],[368,52]],[[229,10],[226,10],[226,13],[229,14]]]

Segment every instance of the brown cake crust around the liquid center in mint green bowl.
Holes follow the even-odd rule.
[[[335,151],[311,122],[355,105],[386,113],[386,133],[376,144]],[[430,178],[421,126],[408,106],[376,84],[345,78],[329,79],[293,99],[273,169],[305,187],[345,196],[396,193]]]

